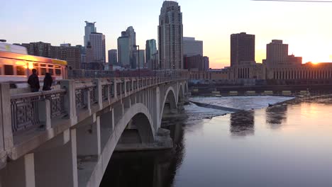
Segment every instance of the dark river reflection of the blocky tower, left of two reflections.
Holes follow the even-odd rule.
[[[231,114],[231,135],[246,136],[255,133],[255,111],[242,111]]]

